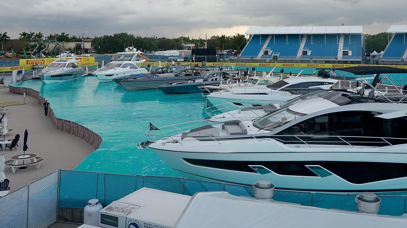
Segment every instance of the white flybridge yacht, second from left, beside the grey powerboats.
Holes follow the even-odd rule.
[[[147,70],[137,64],[145,62],[146,59],[138,56],[139,52],[118,52],[120,58],[109,62],[104,67],[92,73],[101,82],[112,82],[116,77],[136,76],[148,74]]]

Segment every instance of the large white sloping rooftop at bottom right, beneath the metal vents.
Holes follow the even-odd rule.
[[[406,216],[372,215],[319,209],[311,206],[265,202],[227,192],[195,194],[175,228],[346,228],[406,227]]]

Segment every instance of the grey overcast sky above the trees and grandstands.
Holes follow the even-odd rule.
[[[0,32],[205,39],[249,27],[363,26],[364,34],[407,24],[402,0],[3,0]]]

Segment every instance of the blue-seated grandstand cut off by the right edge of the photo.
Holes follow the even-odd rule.
[[[400,64],[400,62],[407,60],[407,42],[406,33],[407,25],[392,25],[387,30],[387,33],[393,34],[392,39],[387,44],[384,50],[381,60],[386,62],[393,62]]]

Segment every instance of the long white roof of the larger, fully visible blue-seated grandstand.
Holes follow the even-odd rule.
[[[246,34],[362,34],[362,26],[250,27]]]

